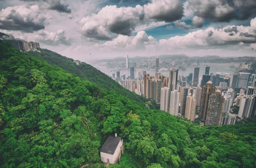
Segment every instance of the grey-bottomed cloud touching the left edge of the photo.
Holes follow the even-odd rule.
[[[0,29],[32,33],[44,29],[47,15],[37,5],[12,6],[0,11]]]

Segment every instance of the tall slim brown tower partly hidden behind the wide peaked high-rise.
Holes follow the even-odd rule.
[[[209,97],[214,92],[215,92],[215,87],[212,86],[212,81],[208,81],[206,83],[206,85],[204,85],[202,88],[201,102],[200,102],[200,109],[199,109],[198,117],[201,118],[201,120],[203,120],[203,121],[206,120]]]

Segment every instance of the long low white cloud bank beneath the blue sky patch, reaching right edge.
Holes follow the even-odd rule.
[[[224,28],[209,27],[184,36],[174,36],[157,41],[148,36],[145,31],[139,31],[136,36],[118,35],[115,39],[102,45],[96,44],[94,50],[177,50],[177,49],[220,49],[230,46],[241,47],[241,44],[256,43],[256,18],[250,26],[227,26]],[[233,36],[230,35],[233,33]]]

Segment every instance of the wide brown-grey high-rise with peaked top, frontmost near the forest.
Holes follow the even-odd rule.
[[[206,126],[220,126],[223,114],[224,98],[220,90],[216,90],[214,94],[209,96],[207,108]]]

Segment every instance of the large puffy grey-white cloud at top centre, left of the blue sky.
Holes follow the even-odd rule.
[[[144,6],[105,6],[97,14],[84,17],[81,34],[99,40],[111,40],[112,34],[131,36],[136,27],[152,22],[172,22],[183,17],[180,0],[152,0]]]

